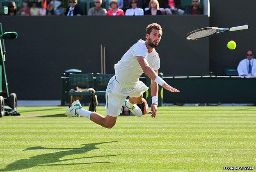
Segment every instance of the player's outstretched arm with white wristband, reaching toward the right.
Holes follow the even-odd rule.
[[[152,79],[153,81],[155,81],[156,83],[158,83],[160,86],[162,86],[163,88],[165,88],[168,91],[175,92],[175,93],[181,92],[181,91],[177,90],[176,88],[173,88],[172,86],[167,84],[161,77],[159,77],[155,73],[153,68],[151,68],[149,66],[148,61],[144,57],[137,56],[137,61],[139,62],[139,65],[142,67],[142,70],[145,73],[145,75],[147,75],[150,79]]]

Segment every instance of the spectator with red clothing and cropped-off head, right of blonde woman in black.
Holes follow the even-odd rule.
[[[160,10],[167,15],[178,14],[183,15],[184,10],[181,8],[181,0],[161,0],[160,1]]]

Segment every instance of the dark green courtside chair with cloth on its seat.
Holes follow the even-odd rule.
[[[88,74],[69,74],[69,86],[68,89],[71,90],[71,88],[75,87],[79,88],[93,88],[94,81],[93,81],[93,73]],[[83,92],[73,92],[69,91],[69,102],[70,102],[70,96],[71,95],[91,95],[90,91],[83,91]]]

